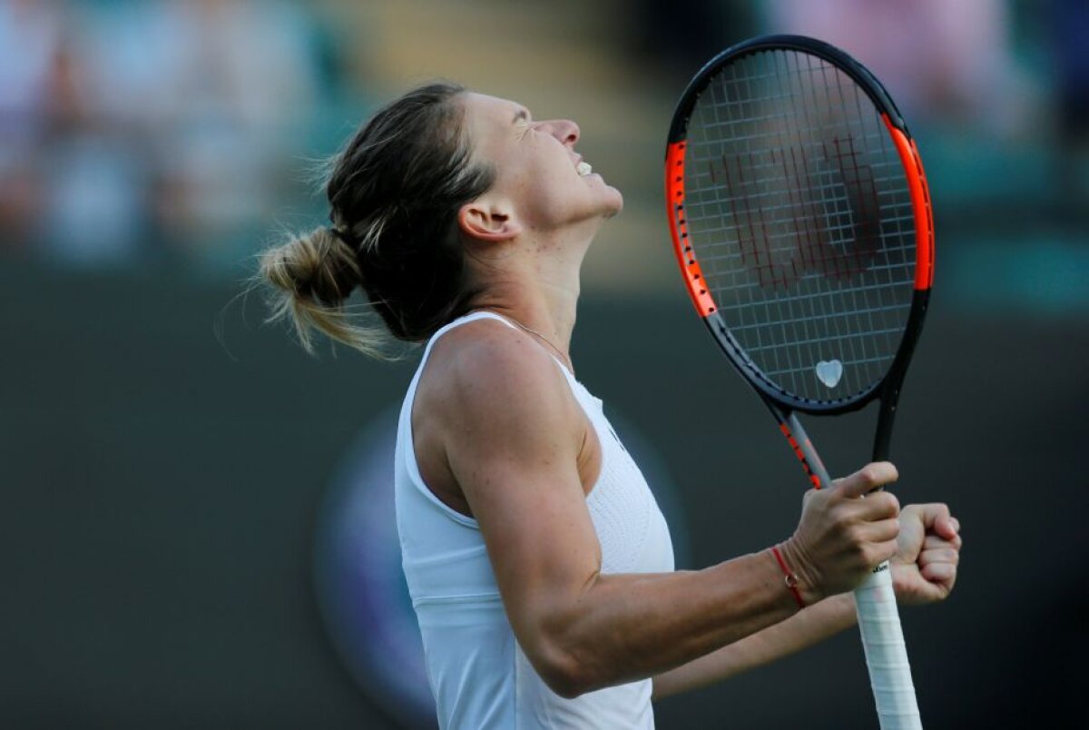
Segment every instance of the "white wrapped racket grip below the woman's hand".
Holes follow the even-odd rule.
[[[921,729],[888,561],[855,588],[855,608],[881,730]]]

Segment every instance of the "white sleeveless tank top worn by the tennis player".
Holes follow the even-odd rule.
[[[476,520],[443,504],[420,477],[412,409],[431,346],[452,328],[486,317],[514,327],[499,315],[477,312],[436,332],[408,386],[397,425],[394,491],[402,563],[439,725],[452,730],[653,728],[649,679],[574,699],[544,684],[511,631]],[[671,572],[669,527],[647,480],[605,419],[601,401],[559,360],[556,364],[601,443],[601,474],[586,497],[601,544],[601,572]]]

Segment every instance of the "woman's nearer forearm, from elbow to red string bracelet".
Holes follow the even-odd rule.
[[[661,674],[797,612],[763,551],[701,571],[599,575],[535,633],[562,657],[577,694]]]

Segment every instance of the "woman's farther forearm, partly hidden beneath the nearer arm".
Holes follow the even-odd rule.
[[[780,623],[654,677],[653,696],[660,699],[713,684],[818,644],[855,622],[852,594],[825,598]]]

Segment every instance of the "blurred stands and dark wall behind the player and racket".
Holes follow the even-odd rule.
[[[389,492],[415,357],[308,357],[242,292],[326,220],[315,162],[435,77],[575,119],[625,195],[574,356],[678,567],[786,536],[803,476],[692,316],[661,204],[684,85],[762,33],[867,64],[927,166],[896,491],[966,539],[954,596],[903,612],[927,726],[1089,727],[1085,0],[0,0],[0,727],[428,727]],[[833,472],[872,433],[840,421],[812,427]],[[876,727],[868,692],[848,632],[656,713]]]

